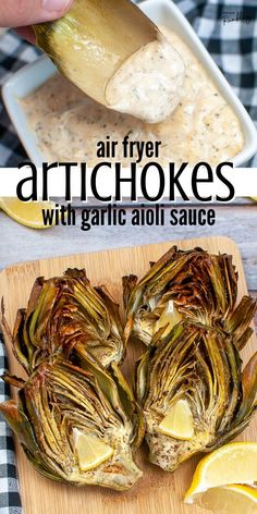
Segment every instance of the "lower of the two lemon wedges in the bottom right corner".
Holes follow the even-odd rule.
[[[257,489],[238,485],[215,487],[201,494],[197,504],[217,514],[256,514]]]

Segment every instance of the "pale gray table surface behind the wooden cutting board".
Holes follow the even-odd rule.
[[[85,208],[86,206],[84,206]],[[170,206],[172,207],[183,206]],[[191,206],[196,207],[196,206]],[[233,204],[211,206],[217,212],[213,227],[95,227],[89,232],[75,227],[54,227],[38,231],[22,227],[0,211],[0,269],[25,260],[74,253],[134,246],[208,235],[225,235],[235,241],[244,261],[249,292],[257,297],[257,204],[237,199]],[[81,208],[77,207],[79,220]],[[128,209],[128,219],[130,219]],[[256,318],[257,321],[257,318]]]

